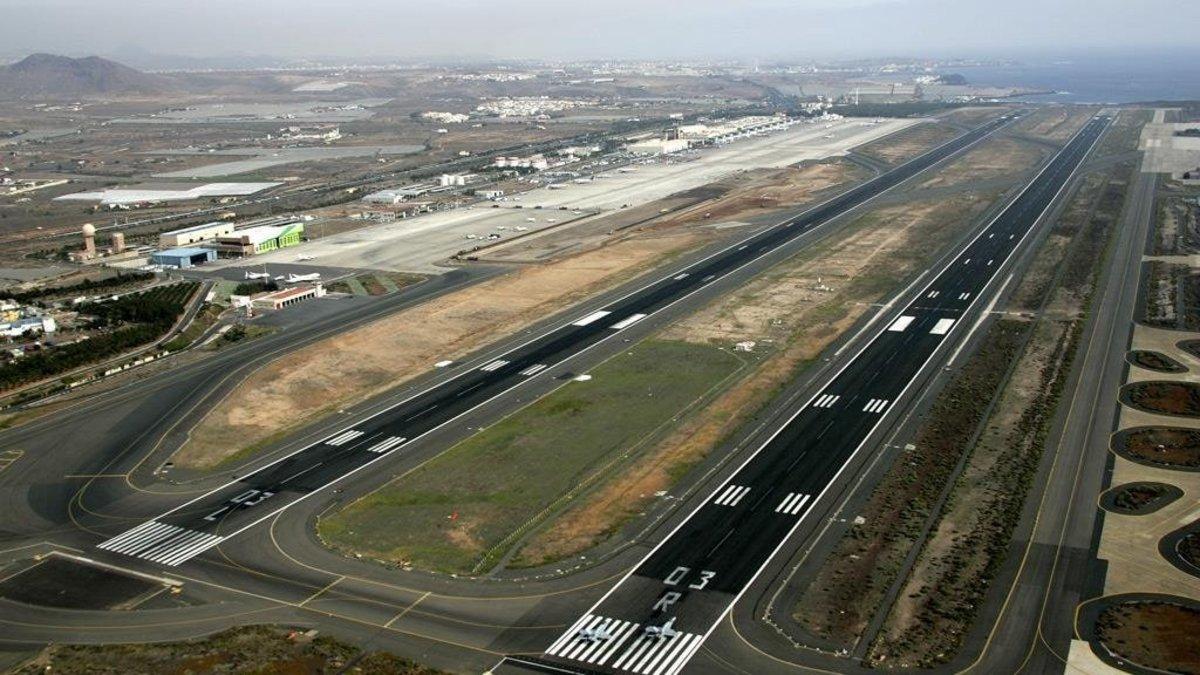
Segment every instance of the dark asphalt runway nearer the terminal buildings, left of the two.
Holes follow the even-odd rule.
[[[529,378],[544,376],[551,366],[886,192],[1008,125],[1010,119],[1001,118],[964,133],[792,220],[648,283],[604,310],[578,316],[481,368],[463,369],[391,408],[107,539],[98,548],[164,566],[182,565],[323,488],[392,453],[404,452],[407,444],[424,434]],[[884,407],[881,405],[880,412]],[[755,495],[751,501],[757,498]]]

